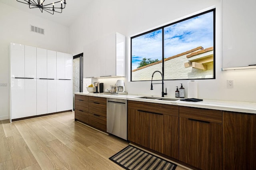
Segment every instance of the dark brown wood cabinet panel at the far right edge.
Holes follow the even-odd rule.
[[[256,169],[256,114],[223,111],[223,169]]]

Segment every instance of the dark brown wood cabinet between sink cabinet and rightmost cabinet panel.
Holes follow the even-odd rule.
[[[179,160],[202,170],[222,169],[222,111],[179,108]]]

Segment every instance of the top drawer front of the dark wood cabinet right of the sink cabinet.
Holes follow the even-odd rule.
[[[188,119],[222,124],[222,111],[219,110],[180,106],[179,114],[180,117]]]

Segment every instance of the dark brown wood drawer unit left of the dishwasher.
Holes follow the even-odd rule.
[[[75,120],[106,132],[106,98],[75,95]]]

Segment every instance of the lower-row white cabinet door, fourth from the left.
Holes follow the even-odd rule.
[[[56,80],[47,80],[47,113],[56,112]]]

